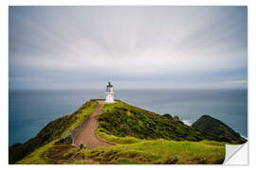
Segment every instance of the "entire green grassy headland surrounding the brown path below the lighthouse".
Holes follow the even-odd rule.
[[[209,134],[175,121],[171,115],[159,115],[121,101],[104,105],[97,129],[102,140],[115,145],[78,149],[71,144],[56,144],[96,105],[86,102],[80,110],[67,115],[73,118],[64,116],[57,119],[60,122],[50,123],[40,133],[52,135],[45,140],[39,138],[41,135],[35,137],[43,143],[37,143],[33,151],[16,163],[216,164],[225,159],[227,142],[210,141]]]

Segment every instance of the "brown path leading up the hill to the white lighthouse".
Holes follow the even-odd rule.
[[[96,136],[96,129],[98,127],[98,119],[102,112],[104,106],[104,101],[99,100],[99,105],[90,115],[89,119],[85,123],[81,132],[75,138],[75,144],[79,146],[80,144],[86,144],[86,148],[91,149],[97,146],[109,146],[113,144],[106,143]]]

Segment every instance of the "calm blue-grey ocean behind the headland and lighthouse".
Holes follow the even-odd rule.
[[[25,143],[50,121],[74,112],[104,90],[9,91],[9,145]],[[247,90],[115,90],[115,98],[191,125],[204,114],[247,138]]]

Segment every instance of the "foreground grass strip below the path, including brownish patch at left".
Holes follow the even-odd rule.
[[[78,149],[70,144],[46,144],[20,164],[220,164],[225,159],[225,143],[201,141],[141,140],[114,137],[116,145]]]

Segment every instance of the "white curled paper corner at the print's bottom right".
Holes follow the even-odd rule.
[[[226,144],[225,161],[223,164],[248,164],[248,144]]]

